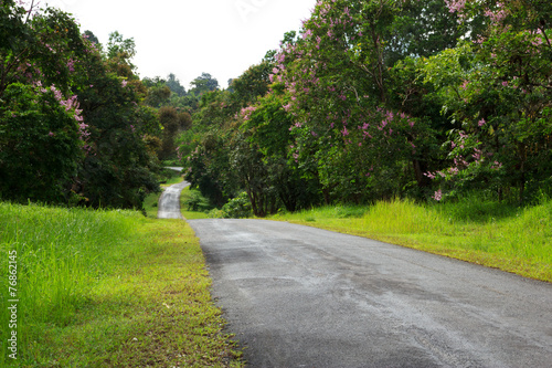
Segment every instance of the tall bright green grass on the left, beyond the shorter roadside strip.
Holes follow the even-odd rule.
[[[8,252],[17,251],[19,346],[29,346],[38,324],[68,324],[86,304],[91,288],[112,271],[107,260],[118,256],[115,244],[136,215],[0,203],[0,362],[9,333]]]

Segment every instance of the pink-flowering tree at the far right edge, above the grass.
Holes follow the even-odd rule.
[[[551,6],[546,1],[447,1],[461,20],[481,18],[475,42],[445,51],[425,65],[457,129],[442,170],[450,188],[488,187],[502,196],[550,187]],[[431,177],[434,174],[428,174]]]

